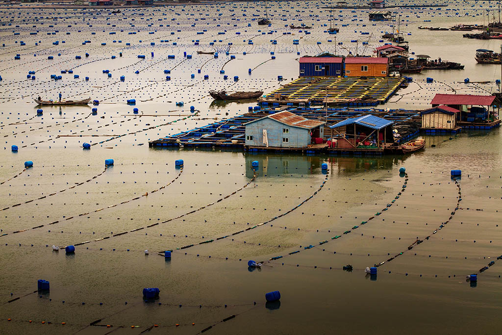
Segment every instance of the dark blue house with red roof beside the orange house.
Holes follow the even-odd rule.
[[[300,77],[339,77],[342,71],[343,57],[323,53],[316,57],[300,58]]]

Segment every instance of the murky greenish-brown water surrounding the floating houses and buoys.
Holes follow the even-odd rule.
[[[159,333],[198,333],[210,325],[213,328],[207,333],[497,333],[502,275],[501,261],[496,260],[502,253],[499,129],[469,131],[451,139],[426,136],[423,152],[404,157],[148,148],[149,140],[244,113],[253,105],[211,104],[209,89],[269,92],[281,84],[278,75],[296,78],[297,51],[301,55],[334,52],[334,42],[327,42],[334,37],[321,27],[329,13],[316,7],[325,4],[271,3],[271,28],[251,21],[253,13],[263,15],[258,5],[121,9],[117,15],[90,10],[2,9],[6,26],[1,27],[0,45],[6,46],[0,50],[0,137],[5,149],[0,156],[0,181],[21,172],[25,161],[34,162],[33,168],[0,185],[0,207],[10,207],[0,211],[2,234],[9,234],[0,237],[0,296],[6,302],[0,307],[2,333],[75,333],[80,329],[79,333],[140,333],[155,323],[159,328],[151,331]],[[480,13],[488,6],[487,2],[461,2],[441,10],[399,10],[405,20],[401,29],[412,33],[406,35],[410,51],[461,62],[465,70],[413,75],[415,82],[385,107],[425,108],[435,93],[451,93],[452,88],[472,94],[495,89],[494,83],[465,85],[463,79],[499,78],[499,68],[478,65],[473,59],[477,48],[497,50],[496,40],[466,40],[462,32],[417,29],[481,23]],[[350,40],[366,41],[368,36],[360,32],[371,32],[365,50],[358,43],[359,52],[370,54],[382,44],[378,42],[380,32],[392,31],[389,23],[368,22],[366,11],[335,12],[343,20],[337,21],[340,33],[336,41],[346,48],[337,47],[337,53],[355,51]],[[466,12],[479,15],[463,16]],[[315,26],[310,35],[285,28],[302,22]],[[272,34],[262,35],[271,29]],[[29,35],[36,30],[38,35]],[[55,30],[59,31],[56,35],[47,35]],[[224,30],[224,35],[218,35]],[[287,32],[292,34],[283,35]],[[300,45],[293,45],[292,40],[300,37]],[[200,46],[192,43],[196,39]],[[250,39],[254,44],[248,44]],[[91,43],[82,45],[85,40]],[[218,59],[196,54],[196,50],[210,49],[213,40]],[[277,45],[270,40],[277,40]],[[26,46],[19,46],[20,41]],[[55,41],[59,45],[53,45]],[[318,46],[317,41],[322,44]],[[233,45],[225,55],[229,42]],[[185,60],[184,51],[193,58]],[[270,52],[277,58],[260,65],[271,58]],[[18,53],[21,59],[14,60]],[[172,54],[175,59],[168,59]],[[236,59],[226,63],[231,54]],[[82,59],[75,59],[76,55]],[[111,59],[112,55],[116,58]],[[146,55],[146,59],[137,55]],[[230,79],[223,79],[222,68]],[[254,69],[251,75],[248,68]],[[64,69],[73,69],[80,78],[61,74],[62,80],[50,80],[51,74]],[[105,69],[111,78],[102,73]],[[165,69],[171,73],[165,74]],[[32,70],[36,79],[28,80],[26,75]],[[204,74],[209,75],[208,80],[203,79]],[[119,80],[121,75],[126,76],[124,82]],[[171,76],[170,81],[165,80],[166,75]],[[232,81],[234,75],[239,81]],[[436,82],[426,83],[426,77]],[[90,115],[93,106],[89,105],[42,107],[43,116],[36,117],[40,107],[32,98],[55,99],[59,91],[63,98],[98,99],[97,115]],[[126,104],[131,98],[137,100],[136,106]],[[184,107],[177,107],[177,101],[184,101]],[[191,115],[190,105],[200,114],[180,120]],[[139,108],[138,114],[134,107]],[[160,127],[148,129],[151,126]],[[111,137],[114,139],[98,143]],[[86,151],[81,149],[83,142],[98,144]],[[18,145],[19,152],[12,153],[11,145]],[[103,173],[108,158],[114,159],[114,166]],[[174,165],[177,159],[185,163],[181,174]],[[242,188],[253,178],[250,163],[254,160],[260,164],[258,176]],[[318,190],[326,176],[320,168],[324,162],[329,167],[328,179]],[[395,199],[405,179],[399,176],[400,167],[406,167],[409,180]],[[454,215],[451,212],[459,194],[450,179],[452,169],[462,170],[462,201]],[[43,196],[46,198],[39,199]],[[285,216],[232,235],[269,221],[308,198]],[[203,206],[207,207],[176,218]],[[450,216],[449,223],[433,234]],[[368,220],[370,217],[374,218]],[[58,222],[49,225],[54,221]],[[362,221],[367,223],[361,225]],[[131,232],[140,228],[144,229]],[[347,230],[351,232],[343,234]],[[123,232],[129,233],[113,237]],[[338,235],[342,237],[332,239]],[[228,237],[216,240],[224,236]],[[427,236],[430,239],[424,240]],[[416,239],[424,242],[408,251]],[[176,250],[208,240],[215,241]],[[77,246],[74,255],[51,248],[85,241],[91,242]],[[323,241],[328,242],[319,245]],[[315,247],[305,250],[309,245]],[[170,249],[174,250],[170,261],[158,256]],[[297,250],[300,253],[289,255]],[[365,276],[365,267],[401,252],[403,255],[379,267],[375,281]],[[250,259],[266,261],[277,256],[284,257],[255,271],[247,268]],[[479,275],[476,287],[470,287],[465,276],[492,260],[495,264]],[[350,273],[341,270],[347,264],[353,266]],[[33,292],[42,278],[50,281],[50,294],[30,294],[7,303]],[[160,299],[144,302],[144,287],[160,288]],[[280,306],[265,304],[265,293],[273,290],[281,292]],[[219,322],[230,315],[236,317]],[[97,324],[104,326],[88,326],[98,319],[102,320]],[[132,325],[140,327],[130,329]]]

